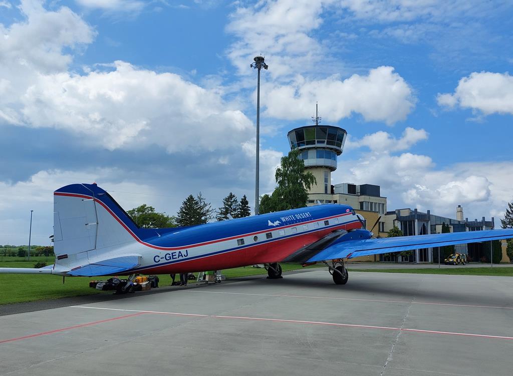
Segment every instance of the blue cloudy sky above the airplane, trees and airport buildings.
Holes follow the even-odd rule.
[[[202,192],[254,205],[312,124],[347,130],[332,184],[388,210],[496,223],[513,201],[513,3],[0,0],[0,244],[50,244],[52,192],[96,182],[174,215]]]

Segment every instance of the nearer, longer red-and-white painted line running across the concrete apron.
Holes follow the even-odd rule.
[[[105,309],[105,310],[113,310],[113,311],[138,312],[136,314],[155,313],[155,314],[168,314],[168,315],[177,315],[177,316],[199,316],[199,317],[213,318],[213,319],[252,320],[252,321],[270,321],[270,322],[292,323],[292,324],[329,325],[329,326],[338,326],[338,327],[347,327],[347,328],[399,330],[399,331],[418,332],[418,333],[464,335],[466,337],[480,337],[480,338],[489,338],[489,339],[513,340],[513,337],[506,337],[503,335],[458,333],[458,332],[439,331],[439,330],[407,329],[407,328],[396,328],[396,327],[390,327],[390,326],[377,326],[377,325],[343,324],[343,323],[329,323],[329,322],[322,322],[322,321],[267,319],[267,318],[247,317],[247,316],[224,316],[224,315],[208,315],[208,314],[196,314],[196,313],[164,312],[164,311],[143,311],[143,310],[134,310],[134,309],[118,309],[118,308],[87,307],[87,306],[72,306],[72,307],[73,308],[89,308],[89,309]],[[130,315],[128,315],[128,316],[130,316]],[[122,319],[122,318],[128,317],[128,316],[122,316],[119,319]],[[115,320],[115,319],[111,319],[111,320]],[[106,321],[109,321],[109,320],[106,320]]]

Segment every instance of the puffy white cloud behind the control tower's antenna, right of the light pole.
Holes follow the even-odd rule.
[[[393,124],[406,119],[415,106],[411,87],[393,67],[371,69],[368,75],[353,74],[345,80],[334,75],[324,80],[295,78],[289,85],[266,85],[266,115],[289,120],[308,118],[312,104],[322,104],[323,118],[339,121],[360,113],[366,121]]]

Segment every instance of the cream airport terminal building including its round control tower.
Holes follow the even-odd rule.
[[[423,235],[441,233],[442,224],[449,225],[451,232],[491,230],[495,219],[486,221],[482,217],[468,221],[463,217],[463,208],[456,208],[456,219],[425,213],[417,209],[388,210],[387,199],[381,195],[381,188],[372,184],[340,183],[331,184],[331,172],[337,169],[337,157],[342,154],[347,132],[332,125],[311,125],[294,128],[287,133],[291,150],[298,149],[305,168],[315,176],[317,184],[311,187],[308,206],[322,204],[346,204],[364,216],[366,227],[376,236],[385,237],[394,226],[399,227],[404,235]],[[481,243],[456,246],[457,252],[467,254],[469,261],[489,258],[486,246]],[[504,247],[503,247],[504,248]],[[361,259],[361,260],[360,260]],[[413,263],[438,263],[438,248],[417,249],[411,256],[373,255],[356,258],[357,261],[388,261]],[[503,249],[503,260],[508,260]]]

